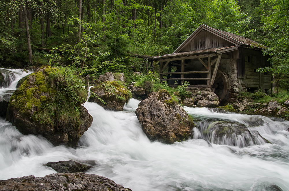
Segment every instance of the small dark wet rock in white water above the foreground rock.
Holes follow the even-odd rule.
[[[79,162],[75,162],[73,160],[48,162],[46,164],[43,164],[43,166],[51,167],[58,173],[85,172],[88,169],[92,168],[92,166],[88,166],[86,164],[80,164]]]

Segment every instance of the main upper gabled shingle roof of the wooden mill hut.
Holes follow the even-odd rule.
[[[182,48],[184,48],[192,39],[194,39],[195,37],[197,37],[197,35],[202,31],[202,30],[207,30],[217,36],[222,37],[223,39],[226,39],[227,41],[231,42],[234,45],[238,45],[238,46],[245,46],[245,47],[254,47],[254,48],[260,48],[260,49],[266,49],[267,47],[259,44],[251,39],[247,39],[245,37],[241,37],[239,35],[235,35],[233,33],[229,33],[226,31],[222,31],[219,29],[214,29],[212,27],[208,27],[205,24],[202,24],[196,31],[194,31],[190,37],[188,37],[188,39],[186,39],[181,46],[179,46],[179,48],[177,48],[175,50],[175,52],[173,53],[178,53],[181,52]]]

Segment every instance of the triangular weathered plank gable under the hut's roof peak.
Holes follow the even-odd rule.
[[[224,46],[234,46],[231,42],[210,33],[209,31],[201,31],[196,38],[192,39],[189,44],[180,50],[180,52],[188,52],[193,50],[202,50],[207,48],[218,48]]]

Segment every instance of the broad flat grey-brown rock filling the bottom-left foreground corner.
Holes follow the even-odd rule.
[[[116,184],[103,176],[85,173],[55,173],[45,177],[23,176],[0,180],[0,190],[3,191],[131,191],[129,188]]]

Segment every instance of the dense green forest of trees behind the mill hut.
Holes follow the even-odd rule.
[[[131,54],[172,53],[201,24],[268,46],[289,74],[289,0],[1,0],[1,67],[71,66],[82,74],[140,71]],[[156,63],[157,65],[157,63]]]

